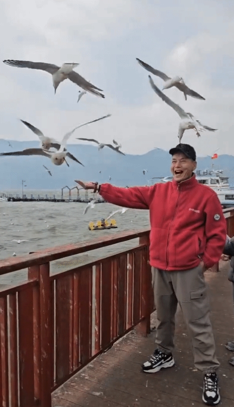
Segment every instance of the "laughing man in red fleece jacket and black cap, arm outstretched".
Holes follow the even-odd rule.
[[[216,375],[219,362],[203,272],[217,263],[222,254],[226,222],[216,193],[195,178],[194,148],[178,144],[169,153],[172,182],[130,188],[77,182],[85,189],[98,191],[107,202],[149,209],[157,347],[142,365],[143,371],[155,373],[174,365],[171,352],[179,303],[192,337],[194,365],[204,373],[202,400],[216,405],[220,401]]]

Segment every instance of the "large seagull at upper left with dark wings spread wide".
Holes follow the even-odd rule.
[[[100,96],[101,98],[105,98],[105,96],[102,93],[100,93],[102,92],[102,89],[99,89],[96,86],[92,85],[77,72],[73,71],[73,69],[80,64],[65,63],[61,67],[58,67],[57,65],[45,64],[44,62],[16,61],[16,60],[4,60],[3,62],[7,65],[10,65],[11,67],[38,69],[41,71],[48,72],[49,74],[52,75],[55,94],[59,84],[63,82],[65,79],[70,79],[70,81],[80,86],[80,88],[84,89],[85,91],[90,92],[96,96]]]

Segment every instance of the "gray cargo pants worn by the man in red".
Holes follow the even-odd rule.
[[[209,300],[201,265],[190,270],[164,271],[152,267],[157,311],[157,348],[174,349],[175,312],[179,303],[191,334],[194,365],[204,373],[219,367],[209,319]]]

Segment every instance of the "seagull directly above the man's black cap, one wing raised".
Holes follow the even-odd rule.
[[[208,127],[208,126],[204,126],[203,124],[201,124],[201,122],[199,120],[196,120],[191,113],[186,113],[179,105],[172,102],[172,100],[170,98],[168,98],[163,92],[160,91],[160,89],[157,88],[157,86],[154,84],[150,75],[149,75],[149,82],[150,82],[152,89],[159,96],[159,98],[161,98],[171,108],[173,108],[178,113],[178,115],[181,119],[181,121],[179,123],[179,129],[178,129],[179,143],[181,142],[181,139],[183,137],[183,133],[185,130],[194,129],[197,137],[200,137],[199,132],[201,132],[203,130],[208,130],[210,132],[214,132],[217,130],[217,129],[212,129],[211,127]]]

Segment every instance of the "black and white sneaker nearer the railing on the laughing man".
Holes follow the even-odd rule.
[[[162,367],[174,366],[175,361],[171,353],[164,353],[159,349],[155,349],[150,359],[142,364],[142,369],[146,373],[156,373]]]

